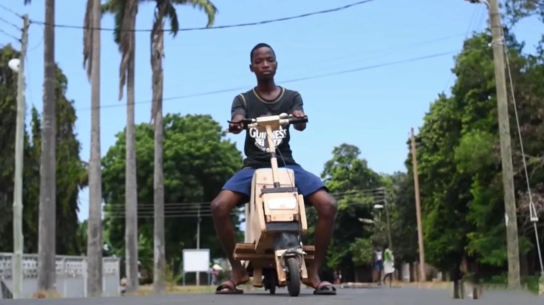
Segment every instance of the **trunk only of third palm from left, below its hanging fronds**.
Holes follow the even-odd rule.
[[[134,28],[134,23],[135,18],[132,28]],[[134,35],[134,32],[131,35]],[[132,41],[135,41],[135,37],[132,38]],[[134,125],[134,53],[134,48],[131,48],[127,71],[125,247],[128,292],[138,290],[138,188],[136,182],[136,134]]]

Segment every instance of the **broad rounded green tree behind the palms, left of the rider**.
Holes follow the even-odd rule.
[[[222,185],[242,164],[242,154],[236,146],[223,139],[221,126],[208,115],[168,114],[164,119],[164,186],[166,258],[174,260],[175,270],[181,264],[183,248],[196,247],[196,211],[200,206],[201,247],[208,247],[212,257],[222,257],[223,252],[215,235],[209,203],[217,196]],[[104,239],[113,253],[123,257],[125,242],[123,189],[125,179],[125,134],[117,135],[103,164],[103,196],[106,202]],[[150,124],[136,128],[138,163],[138,201],[140,260],[145,273],[153,270],[153,152],[154,133]],[[172,204],[188,203],[194,204]],[[179,217],[172,217],[172,216]],[[237,215],[233,215],[238,227]],[[142,240],[142,238],[145,238]],[[152,278],[152,276],[151,276]]]

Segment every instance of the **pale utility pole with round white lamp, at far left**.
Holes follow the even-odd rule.
[[[21,298],[23,288],[23,146],[24,146],[24,60],[27,55],[28,15],[23,16],[21,58],[17,72],[17,119],[15,128],[15,187],[13,194],[13,297]]]

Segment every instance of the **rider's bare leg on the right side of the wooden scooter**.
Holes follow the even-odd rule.
[[[325,190],[319,190],[308,196],[308,201],[317,210],[316,236],[314,238],[316,244],[316,252],[314,260],[308,268],[308,279],[304,284],[317,288],[321,280],[319,279],[319,267],[325,258],[329,242],[332,238],[332,231],[336,219],[336,201]]]

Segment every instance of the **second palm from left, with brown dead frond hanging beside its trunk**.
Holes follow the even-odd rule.
[[[89,161],[89,223],[87,291],[102,295],[102,173],[100,159],[100,0],[87,0],[83,29],[83,65],[91,80],[91,158]],[[90,27],[95,29],[90,29]]]

